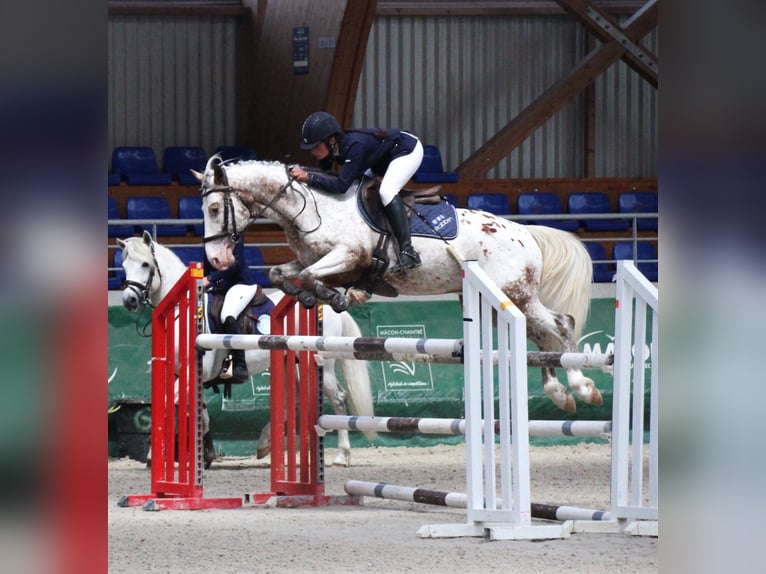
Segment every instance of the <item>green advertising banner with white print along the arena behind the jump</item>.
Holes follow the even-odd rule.
[[[364,336],[462,339],[462,309],[454,300],[397,301],[394,299],[367,303],[350,310]],[[143,320],[136,322],[135,313],[122,307],[109,308],[109,383],[110,451],[119,451],[117,426],[131,426],[131,420],[146,425],[146,410],[151,397],[149,361],[151,339],[141,335]],[[536,347],[529,343],[529,350]],[[583,352],[609,353],[614,349],[614,299],[594,299],[580,348]],[[647,366],[651,366],[648,348],[644,350]],[[463,417],[463,366],[408,361],[371,361],[367,363],[377,416]],[[342,380],[340,369],[338,376]],[[647,373],[649,371],[647,370]],[[566,373],[558,369],[559,379],[566,385]],[[205,390],[211,428],[217,442],[224,441],[224,452],[252,454],[260,429],[269,420],[270,378],[268,371],[251,374],[249,382],[232,387],[231,399],[221,393]],[[588,370],[604,396],[604,404],[593,407],[577,401],[577,413],[570,415],[556,408],[542,390],[541,373],[530,368],[529,416],[531,419],[609,420],[612,408],[612,376],[600,370]],[[222,389],[221,389],[222,391]],[[122,411],[122,413],[121,413]],[[325,403],[325,412],[332,412]],[[121,413],[121,414],[120,414]],[[351,433],[354,446],[369,445],[361,433]],[[112,440],[113,439],[113,440]],[[335,446],[334,433],[326,437]],[[380,434],[377,444],[434,444],[453,442],[445,437]],[[455,440],[462,440],[455,437]],[[415,441],[415,442],[413,442]]]

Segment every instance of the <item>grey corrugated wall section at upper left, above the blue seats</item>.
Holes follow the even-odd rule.
[[[236,27],[220,16],[110,16],[109,145],[212,153],[237,142]]]

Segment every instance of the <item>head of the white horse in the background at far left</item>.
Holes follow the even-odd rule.
[[[122,304],[128,311],[139,311],[159,293],[162,274],[157,265],[152,236],[144,231],[142,237],[117,240],[122,247],[122,268],[125,270],[125,288]]]

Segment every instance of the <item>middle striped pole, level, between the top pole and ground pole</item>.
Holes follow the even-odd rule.
[[[482,421],[483,426],[484,421]],[[355,417],[321,415],[317,426],[324,430],[350,430],[374,432],[411,432],[420,434],[465,434],[465,419],[437,419],[411,417]],[[500,421],[495,421],[499,434]],[[538,437],[577,436],[605,437],[612,432],[611,421],[529,421],[529,435]]]

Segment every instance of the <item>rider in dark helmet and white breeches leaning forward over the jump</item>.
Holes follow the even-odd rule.
[[[423,161],[420,140],[398,129],[344,131],[333,115],[315,112],[303,123],[301,148],[311,150],[324,173],[309,173],[300,167],[293,167],[290,173],[312,187],[345,193],[368,170],[382,176],[380,199],[399,244],[399,261],[394,270],[418,267],[420,255],[412,247],[409,217],[399,192]],[[334,163],[342,166],[339,173],[330,172]]]

